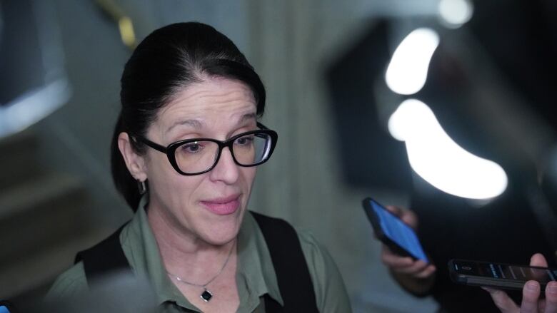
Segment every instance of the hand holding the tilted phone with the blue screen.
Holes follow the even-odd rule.
[[[418,226],[418,217],[411,210],[405,210],[400,207],[391,205],[386,207],[387,210],[401,218],[410,227],[416,229]],[[392,252],[386,245],[381,250],[381,261],[385,264],[393,274],[398,276],[405,275],[415,279],[426,279],[431,277],[435,272],[435,266],[423,262],[422,260],[413,260],[411,257],[403,257]]]

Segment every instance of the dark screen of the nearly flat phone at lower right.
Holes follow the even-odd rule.
[[[543,267],[523,267],[490,262],[453,261],[454,271],[458,274],[489,277],[495,279],[513,279],[521,282],[537,280],[540,284],[557,279],[557,270]]]

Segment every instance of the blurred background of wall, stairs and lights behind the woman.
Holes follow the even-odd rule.
[[[463,301],[393,282],[366,196],[416,211],[440,282],[448,257],[554,264],[556,14],[549,0],[1,0],[0,298],[41,297],[131,217],[109,166],[119,79],[136,43],[178,21],[229,36],[263,79],[280,140],[249,208],[313,232],[354,312]]]

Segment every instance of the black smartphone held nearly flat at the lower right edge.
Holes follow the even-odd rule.
[[[557,278],[557,269],[471,260],[451,260],[448,270],[458,284],[501,289],[522,289],[528,280],[537,280],[543,290]]]

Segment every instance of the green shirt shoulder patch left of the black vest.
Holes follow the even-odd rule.
[[[79,262],[56,278],[46,294],[47,300],[58,300],[72,297],[88,289],[83,262]]]

